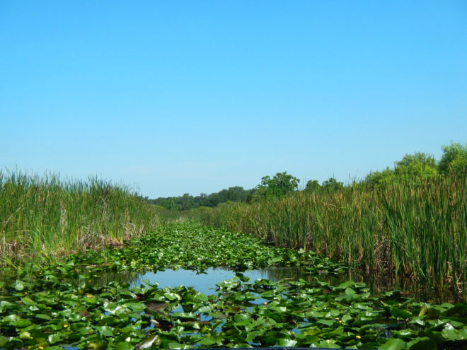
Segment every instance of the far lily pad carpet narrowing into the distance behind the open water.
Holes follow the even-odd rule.
[[[120,249],[90,250],[71,255],[59,269],[73,272],[77,266],[93,264],[105,270],[137,271],[231,267],[246,270],[271,265],[305,266],[310,273],[340,274],[345,266],[314,252],[264,245],[253,235],[209,228],[199,223],[160,226],[153,233],[131,240]]]

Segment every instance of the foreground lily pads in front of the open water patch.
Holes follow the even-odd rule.
[[[431,305],[396,292],[371,297],[352,281],[220,281],[215,295],[193,288],[64,284],[58,278],[3,286],[2,349],[188,349],[314,346],[459,349],[467,305]]]

